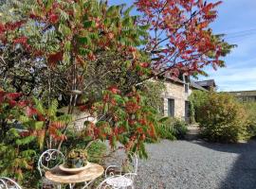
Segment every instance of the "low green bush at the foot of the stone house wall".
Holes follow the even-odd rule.
[[[159,120],[161,124],[155,131],[159,138],[168,140],[184,139],[188,128],[185,121],[177,118],[165,117]]]

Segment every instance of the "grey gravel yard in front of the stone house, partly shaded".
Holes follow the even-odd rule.
[[[239,145],[162,141],[147,146],[137,189],[256,189],[256,141]]]

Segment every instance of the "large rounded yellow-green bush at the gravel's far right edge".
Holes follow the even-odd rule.
[[[249,137],[247,113],[229,94],[210,92],[197,107],[201,134],[212,142],[238,142]]]

